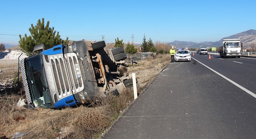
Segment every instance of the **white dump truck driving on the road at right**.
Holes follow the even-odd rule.
[[[223,39],[223,45],[218,47],[218,52],[221,58],[238,57],[241,56],[241,47],[243,47],[240,39]]]

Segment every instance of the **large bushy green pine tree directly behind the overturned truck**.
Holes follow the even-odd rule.
[[[42,22],[39,19],[35,26],[31,24],[31,28],[29,28],[31,36],[25,34],[24,37],[21,37],[21,35],[19,35],[19,46],[25,53],[32,54],[34,47],[40,44],[44,44],[45,49],[52,48],[59,44],[67,44],[68,37],[65,41],[62,40],[59,32],[56,33],[54,27],[49,27],[49,24],[50,21],[47,21],[45,25],[44,18],[42,18]]]

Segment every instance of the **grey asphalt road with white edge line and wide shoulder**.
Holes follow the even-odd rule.
[[[208,56],[168,64],[102,138],[255,139],[256,59]]]

